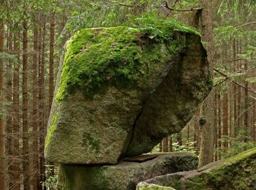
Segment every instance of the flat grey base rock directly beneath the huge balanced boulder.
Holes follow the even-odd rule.
[[[198,164],[194,153],[166,153],[142,163],[119,161],[116,165],[61,164],[61,190],[126,190],[135,189],[142,180],[170,172],[195,170]]]

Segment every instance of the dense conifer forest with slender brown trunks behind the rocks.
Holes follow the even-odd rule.
[[[192,151],[202,166],[254,147],[255,15],[255,0],[1,0],[0,189],[56,188],[58,165],[43,153],[46,127],[61,51],[80,28],[151,26],[157,18],[197,28],[214,88],[182,132],[152,151]]]

